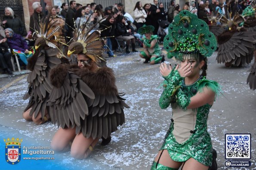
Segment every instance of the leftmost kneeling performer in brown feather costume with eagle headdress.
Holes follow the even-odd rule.
[[[33,120],[36,124],[42,124],[49,119],[49,106],[47,100],[52,90],[52,84],[49,80],[51,69],[62,63],[57,57],[59,50],[50,41],[55,41],[56,35],[59,35],[62,26],[59,24],[49,24],[49,18],[42,18],[40,21],[40,33],[35,32],[36,53],[28,60],[28,69],[31,73],[28,75],[28,92],[24,99],[28,99],[28,106],[22,114],[24,119]]]

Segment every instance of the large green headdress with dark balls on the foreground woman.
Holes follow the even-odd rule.
[[[210,57],[217,48],[217,41],[203,20],[187,10],[182,10],[169,25],[168,35],[163,41],[168,58],[182,60],[182,56]]]

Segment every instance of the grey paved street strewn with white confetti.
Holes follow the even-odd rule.
[[[207,78],[219,82],[222,86],[220,95],[210,109],[208,131],[216,149],[217,163],[222,170],[256,169],[256,91],[246,84],[249,66],[225,68],[215,61],[216,52],[208,60]],[[173,66],[174,60],[166,59]],[[5,162],[3,138],[19,137],[22,146],[50,146],[57,126],[47,122],[35,125],[22,119],[22,111],[28,100],[22,100],[27,90],[27,76],[16,75],[0,80],[0,169],[15,167],[20,170],[149,170],[170,125],[171,111],[160,109],[158,99],[163,89],[160,83],[158,65],[143,64],[139,53],[119,55],[107,60],[107,65],[114,70],[119,92],[126,92],[126,122],[113,133],[108,146],[96,145],[92,155],[86,160],[75,160],[70,152],[55,153],[55,160],[28,161],[9,165]],[[7,86],[6,86],[7,85]],[[225,166],[225,134],[251,134],[250,168],[228,168]],[[24,156],[24,155],[22,155]]]

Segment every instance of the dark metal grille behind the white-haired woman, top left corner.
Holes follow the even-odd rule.
[[[0,0],[0,18],[1,21],[4,15],[5,7],[10,7],[16,16],[19,16],[23,23],[24,21],[24,14],[23,14],[23,6],[22,0]]]

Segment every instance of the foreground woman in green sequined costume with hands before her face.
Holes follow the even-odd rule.
[[[166,85],[159,105],[164,109],[171,104],[173,118],[151,170],[178,170],[181,166],[183,170],[216,169],[207,117],[220,87],[205,77],[207,57],[216,50],[216,38],[204,21],[183,10],[170,24],[163,45],[167,57],[181,63],[175,68],[160,64]]]

